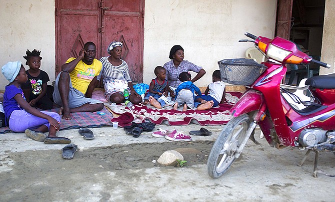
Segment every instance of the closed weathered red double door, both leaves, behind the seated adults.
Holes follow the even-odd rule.
[[[132,81],[142,82],[143,12],[144,0],[55,0],[56,75],[85,42],[95,43],[99,59],[111,41],[121,41]]]

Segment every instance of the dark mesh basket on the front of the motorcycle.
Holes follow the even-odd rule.
[[[224,59],[217,63],[221,80],[234,85],[250,86],[266,70],[266,66],[253,59]]]

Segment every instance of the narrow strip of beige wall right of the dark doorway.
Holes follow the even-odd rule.
[[[335,72],[335,4],[325,0],[321,61],[331,65],[330,69],[321,67],[320,74]]]

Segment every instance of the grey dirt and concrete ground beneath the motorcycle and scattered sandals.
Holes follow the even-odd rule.
[[[200,126],[179,127],[187,132]],[[219,179],[207,174],[206,162],[222,126],[206,127],[212,136],[170,142],[143,133],[137,139],[122,129],[92,129],[95,139],[83,140],[77,130],[60,131],[77,144],[72,160],[61,158],[63,145],[44,145],[23,134],[0,135],[0,201],[171,202],[171,201],[310,201],[331,202],[334,178],[312,177],[305,151],[248,141],[240,158]],[[166,150],[180,152],[186,166],[160,167],[153,160]],[[319,155],[319,168],[335,173],[335,156]]]

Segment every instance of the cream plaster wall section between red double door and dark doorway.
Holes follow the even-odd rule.
[[[145,0],[144,82],[155,77],[153,68],[169,61],[170,48],[179,44],[184,60],[207,72],[195,83],[206,86],[217,61],[244,57],[252,46],[238,43],[246,38],[244,31],[273,36],[275,13],[275,0]]]

